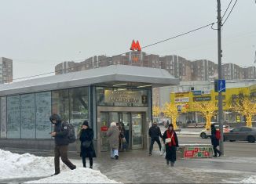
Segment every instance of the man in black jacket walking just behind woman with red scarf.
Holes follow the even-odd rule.
[[[153,145],[154,145],[155,141],[156,141],[156,143],[158,143],[160,154],[161,154],[162,146],[161,146],[161,143],[160,143],[160,140],[159,140],[159,136],[162,138],[162,133],[161,133],[161,130],[157,126],[157,123],[155,121],[153,122],[152,127],[149,128],[148,135],[149,135],[149,137],[151,137],[151,143],[150,143],[150,146],[149,146],[149,156],[152,155]]]

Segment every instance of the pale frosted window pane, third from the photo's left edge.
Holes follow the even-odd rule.
[[[20,96],[21,139],[35,139],[35,94]]]

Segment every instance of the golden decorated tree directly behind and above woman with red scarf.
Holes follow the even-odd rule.
[[[180,113],[177,111],[177,107],[181,106],[181,104],[175,104],[175,103],[165,103],[163,108],[163,113],[166,117],[170,117],[172,124],[174,125],[174,130],[177,130],[177,117],[180,115]],[[181,109],[182,113],[186,112],[186,108]]]

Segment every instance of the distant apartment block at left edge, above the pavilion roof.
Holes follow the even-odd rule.
[[[0,84],[13,81],[13,60],[0,57]]]

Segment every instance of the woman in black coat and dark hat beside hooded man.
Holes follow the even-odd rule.
[[[93,157],[96,157],[96,153],[93,147],[93,129],[89,128],[88,121],[84,121],[82,124],[82,130],[80,135],[81,152],[83,167],[86,168],[86,157],[89,157],[90,168],[93,168]]]

